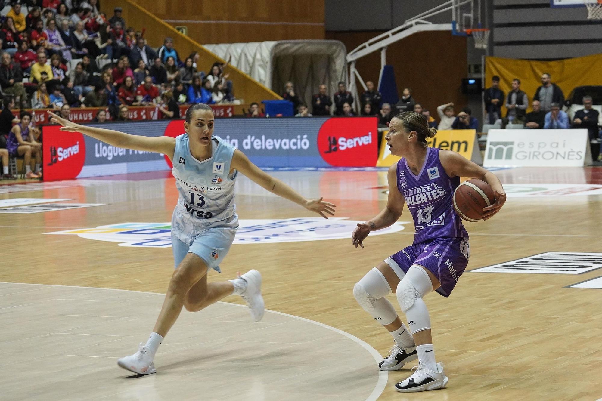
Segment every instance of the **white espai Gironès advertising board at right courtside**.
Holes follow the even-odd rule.
[[[591,163],[587,129],[490,129],[483,167],[580,167]]]

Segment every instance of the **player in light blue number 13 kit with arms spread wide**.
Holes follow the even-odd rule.
[[[228,253],[238,228],[234,204],[234,180],[241,172],[266,190],[293,201],[327,219],[335,205],[320,199],[305,199],[279,179],[251,163],[243,152],[213,136],[213,110],[206,104],[191,105],[186,111],[185,134],[172,137],[144,137],[111,129],[78,125],[48,112],[61,131],[81,132],[119,148],[158,152],[172,160],[172,173],[179,192],[172,217],[172,247],[176,270],[167,288],[163,308],[146,344],[117,364],[140,375],[155,373],[155,353],[178,319],[182,306],[196,312],[231,294],[249,305],[252,319],[264,314],[261,275],[250,270],[237,279],[207,283],[209,269],[220,272],[219,264]]]

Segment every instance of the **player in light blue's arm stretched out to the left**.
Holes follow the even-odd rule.
[[[79,125],[57,114],[48,111],[51,122],[62,125],[61,131],[81,132],[89,137],[101,140],[117,148],[134,149],[134,151],[157,152],[167,155],[173,159],[176,149],[176,139],[172,137],[145,137],[144,135],[131,135],[125,132],[113,131],[113,129],[93,128],[91,126]]]

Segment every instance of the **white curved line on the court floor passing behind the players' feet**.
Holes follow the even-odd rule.
[[[113,290],[113,291],[125,291],[128,293],[155,294],[155,295],[163,295],[163,296],[165,295],[165,294],[154,293],[154,292],[149,292],[149,291],[122,290],[121,288],[106,288],[106,287],[84,287],[82,285],[35,284],[35,283],[31,283],[31,282],[5,282],[5,281],[0,281],[0,284],[43,285],[45,287],[92,288],[93,290]],[[242,308],[247,308],[246,305],[241,305],[240,303],[224,302],[224,301],[217,301],[216,303],[225,303],[227,305],[236,305],[236,306],[240,306]],[[377,352],[376,349],[374,349],[374,347],[372,347],[370,344],[366,343],[364,340],[361,340],[361,338],[355,337],[355,335],[349,334],[346,331],[334,328],[329,325],[325,325],[324,323],[316,322],[315,320],[306,319],[305,317],[294,316],[294,315],[284,313],[284,312],[279,312],[279,311],[272,311],[271,309],[265,309],[265,311],[275,313],[278,315],[282,315],[282,316],[291,317],[291,318],[297,319],[297,320],[302,320],[303,322],[312,323],[313,325],[321,326],[323,328],[334,331],[335,333],[341,334],[344,337],[349,338],[349,340],[352,340],[355,343],[362,346],[362,348],[364,348],[365,350],[368,351],[368,353],[370,353],[370,355],[374,358],[374,361],[377,364],[382,359],[382,356],[380,355],[379,352]],[[379,370],[378,371],[378,380],[376,381],[376,386],[374,387],[374,390],[372,390],[372,393],[370,393],[370,395],[367,397],[366,401],[376,401],[378,399],[378,397],[380,397],[380,395],[383,393],[383,391],[385,391],[385,387],[386,387],[388,380],[389,380],[389,372],[385,371],[385,370]]]

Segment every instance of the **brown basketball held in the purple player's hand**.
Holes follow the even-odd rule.
[[[478,222],[483,219],[483,208],[495,202],[489,184],[480,179],[469,179],[458,185],[453,193],[453,208],[464,220]]]

